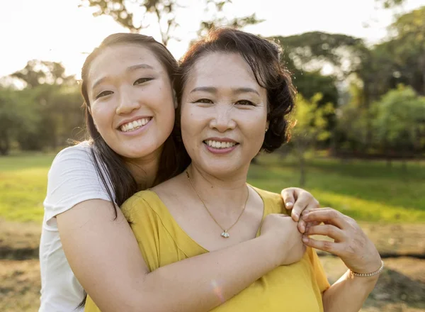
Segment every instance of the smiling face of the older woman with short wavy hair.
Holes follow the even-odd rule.
[[[267,92],[241,55],[201,57],[181,105],[183,143],[195,165],[221,177],[249,167],[268,126]]]

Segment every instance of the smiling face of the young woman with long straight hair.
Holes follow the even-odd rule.
[[[103,140],[136,159],[160,150],[174,126],[175,101],[166,69],[140,45],[103,50],[89,69],[91,115]]]

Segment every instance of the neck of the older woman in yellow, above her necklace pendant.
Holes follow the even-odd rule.
[[[241,174],[227,178],[212,176],[193,164],[186,170],[196,193],[211,211],[233,213],[241,210],[249,191],[246,186],[247,169]]]

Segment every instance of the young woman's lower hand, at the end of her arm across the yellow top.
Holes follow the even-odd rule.
[[[301,260],[305,253],[302,234],[297,229],[297,222],[283,213],[271,213],[264,218],[261,236],[268,236],[272,242],[273,255],[278,257],[280,265],[291,264]]]

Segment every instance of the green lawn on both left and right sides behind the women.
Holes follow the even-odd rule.
[[[42,220],[47,172],[55,155],[0,157],[0,218],[10,221]],[[299,186],[297,162],[278,155],[259,157],[251,165],[249,183],[279,192]],[[395,163],[317,159],[307,167],[305,189],[322,206],[331,206],[358,221],[425,222],[425,164],[409,162],[407,171]]]

